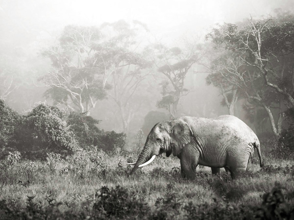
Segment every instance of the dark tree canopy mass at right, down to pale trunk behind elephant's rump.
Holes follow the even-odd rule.
[[[225,23],[206,38],[223,51],[212,63],[207,82],[263,107],[278,138],[283,111],[294,105],[294,17],[278,14],[258,21],[251,18],[240,26]]]

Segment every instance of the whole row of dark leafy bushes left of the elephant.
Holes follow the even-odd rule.
[[[115,151],[125,145],[124,133],[105,132],[98,129],[99,120],[91,116],[66,114],[46,103],[19,115],[0,100],[0,119],[3,158],[12,151],[19,151],[26,158],[45,159],[49,152],[69,155],[78,147]]]

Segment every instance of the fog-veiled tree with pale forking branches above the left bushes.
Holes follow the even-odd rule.
[[[66,26],[57,44],[42,52],[51,60],[52,69],[41,78],[49,87],[46,96],[71,110],[86,112],[106,97],[109,85],[104,72],[93,62],[93,46],[102,38],[96,27]]]

